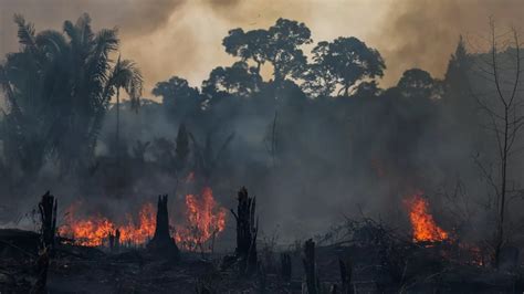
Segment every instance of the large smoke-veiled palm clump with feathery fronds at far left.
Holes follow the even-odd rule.
[[[25,171],[38,171],[53,157],[62,171],[84,168],[94,156],[102,122],[113,96],[124,88],[138,104],[142,74],[118,51],[116,29],[93,32],[83,14],[65,21],[64,33],[42,31],[14,17],[21,49],[0,64],[8,101],[1,139],[8,158]]]

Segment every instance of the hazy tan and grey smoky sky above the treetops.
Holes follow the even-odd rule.
[[[123,57],[138,63],[150,96],[171,75],[198,86],[214,66],[231,64],[221,45],[230,29],[268,28],[283,17],[305,22],[315,42],[357,36],[377,48],[390,85],[413,66],[441,77],[459,34],[482,34],[490,15],[518,28],[523,11],[521,0],[0,0],[0,53],[18,48],[13,13],[43,30],[88,12],[95,29],[119,28]]]

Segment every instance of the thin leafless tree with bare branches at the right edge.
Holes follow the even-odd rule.
[[[488,60],[479,66],[486,81],[493,82],[494,92],[486,92],[488,95],[480,93],[473,93],[473,95],[489,118],[489,123],[484,127],[494,134],[497,150],[495,172],[491,172],[485,164],[476,159],[495,198],[494,261],[495,265],[500,265],[501,250],[509,239],[505,230],[507,204],[509,201],[522,195],[522,191],[514,188],[515,176],[510,174],[510,165],[517,149],[515,144],[520,143],[518,137],[524,126],[524,113],[522,113],[523,99],[518,95],[522,71],[518,34],[515,29],[512,29],[510,31],[511,40],[501,40],[501,36],[495,33],[493,21],[490,22],[490,25],[491,51],[485,55]],[[509,34],[502,36],[505,35]],[[501,43],[506,44],[505,51],[501,51]],[[491,93],[495,93],[494,96]],[[513,185],[511,185],[512,182]]]

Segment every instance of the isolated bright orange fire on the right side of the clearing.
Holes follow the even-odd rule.
[[[413,195],[412,199],[406,201],[409,207],[409,219],[413,230],[415,242],[438,242],[449,238],[448,232],[442,230],[429,213],[428,202],[422,193]]]

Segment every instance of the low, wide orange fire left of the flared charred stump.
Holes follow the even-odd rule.
[[[116,229],[120,231],[120,242],[142,245],[155,232],[155,210],[151,203],[142,207],[138,221],[127,216],[127,222],[118,225],[106,217],[96,216],[87,219],[75,217],[76,204],[71,206],[65,214],[64,224],[59,228],[59,234],[74,239],[75,244],[99,246]]]

